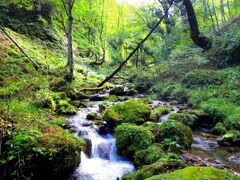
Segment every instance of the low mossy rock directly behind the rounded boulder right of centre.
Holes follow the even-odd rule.
[[[197,127],[197,116],[194,114],[173,113],[169,116],[169,119],[179,121],[192,129],[195,129]]]

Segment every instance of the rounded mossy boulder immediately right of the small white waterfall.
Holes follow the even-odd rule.
[[[145,127],[124,123],[115,129],[116,144],[120,154],[133,159],[135,152],[146,149],[154,142],[151,131]]]

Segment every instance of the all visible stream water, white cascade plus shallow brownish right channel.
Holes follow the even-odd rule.
[[[88,108],[80,108],[78,113],[68,121],[75,128],[76,135],[90,142],[89,155],[81,152],[81,164],[76,169],[73,179],[77,180],[118,180],[129,172],[134,171],[132,162],[118,155],[116,139],[111,134],[100,135],[98,127],[93,121],[87,120],[90,112],[99,112],[99,105],[103,101],[88,101]],[[167,102],[152,101],[151,108],[159,105],[169,105]],[[173,111],[159,118],[159,123],[168,119]],[[183,153],[182,159],[189,165],[213,166],[240,173],[240,148],[221,147],[217,136],[204,137],[203,131],[193,131],[194,142],[192,148]]]

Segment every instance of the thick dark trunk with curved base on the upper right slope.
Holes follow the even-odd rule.
[[[186,7],[188,22],[190,26],[190,33],[193,42],[203,49],[210,49],[212,46],[212,41],[205,36],[200,36],[197,18],[191,1],[183,0],[183,5]]]

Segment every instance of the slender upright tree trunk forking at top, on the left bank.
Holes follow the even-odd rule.
[[[62,0],[66,15],[67,15],[67,29],[66,36],[67,36],[67,75],[66,80],[68,82],[73,81],[73,47],[72,47],[72,30],[73,30],[73,6],[75,0]]]

